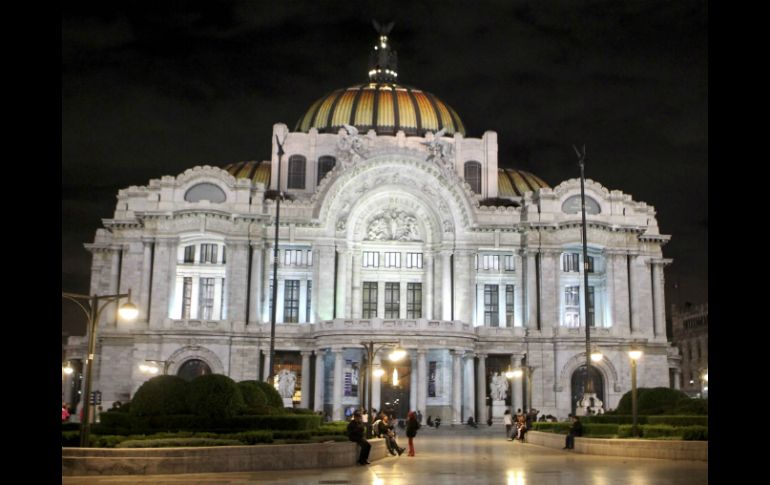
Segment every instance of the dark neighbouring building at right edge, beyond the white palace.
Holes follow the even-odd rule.
[[[682,356],[681,389],[692,396],[708,396],[709,305],[671,305],[673,344]]]

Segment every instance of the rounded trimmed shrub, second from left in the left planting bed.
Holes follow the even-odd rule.
[[[238,385],[222,374],[207,374],[193,379],[188,400],[193,414],[208,418],[229,418],[245,408]]]

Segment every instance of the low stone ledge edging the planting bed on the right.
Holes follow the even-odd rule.
[[[529,431],[527,432],[527,443],[562,449],[565,436],[542,431]],[[590,455],[708,461],[708,441],[575,438],[573,451]]]

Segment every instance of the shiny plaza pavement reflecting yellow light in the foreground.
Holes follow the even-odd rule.
[[[403,430],[400,446],[407,446]],[[289,471],[63,477],[62,485],[701,485],[708,463],[577,454],[506,441],[494,427],[423,426],[417,456],[387,457],[368,466]],[[302,457],[298,456],[298,460]]]

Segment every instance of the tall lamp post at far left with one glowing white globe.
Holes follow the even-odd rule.
[[[62,292],[62,298],[74,301],[88,317],[88,355],[86,355],[86,389],[83,401],[83,420],[80,422],[80,446],[88,446],[88,435],[91,432],[91,371],[96,353],[96,327],[99,324],[99,315],[109,303],[117,302],[121,298],[128,298],[128,302],[120,307],[118,314],[124,320],[134,320],[139,314],[136,305],[131,303],[131,290],[128,293],[113,295],[81,295],[79,293]],[[101,303],[101,306],[100,305]]]

